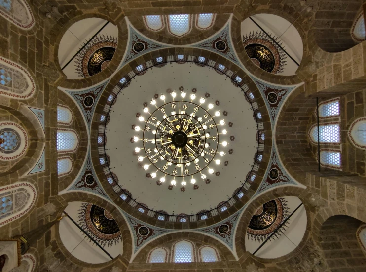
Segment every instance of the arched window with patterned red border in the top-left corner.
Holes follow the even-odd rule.
[[[22,29],[31,29],[35,24],[31,8],[24,0],[0,1],[0,15]]]

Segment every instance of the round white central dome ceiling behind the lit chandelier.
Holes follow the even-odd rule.
[[[122,89],[105,148],[111,172],[137,202],[191,214],[215,208],[241,187],[256,134],[251,105],[230,78],[179,62],[143,71]]]

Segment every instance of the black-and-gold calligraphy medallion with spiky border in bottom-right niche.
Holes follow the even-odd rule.
[[[248,238],[257,242],[267,239],[289,216],[290,212],[286,203],[284,198],[277,198],[259,207],[249,222]],[[271,238],[278,238],[278,232],[284,231],[286,228],[287,222]]]

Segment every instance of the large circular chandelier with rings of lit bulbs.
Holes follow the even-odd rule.
[[[134,150],[138,162],[149,171],[147,177],[157,178],[158,185],[168,182],[170,190],[181,183],[184,192],[187,182],[196,190],[197,180],[220,175],[215,167],[221,164],[228,143],[223,139],[226,123],[220,120],[221,113],[213,103],[196,99],[194,93],[185,100],[184,91],[177,96],[175,91],[168,97],[155,94],[150,108],[145,102],[144,113],[136,114],[143,125],[132,125],[140,135],[132,137],[131,142],[141,143]]]

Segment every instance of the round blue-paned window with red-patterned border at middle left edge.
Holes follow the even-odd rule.
[[[0,123],[0,159],[12,160],[24,154],[28,146],[25,130],[16,123]]]

